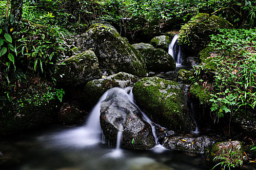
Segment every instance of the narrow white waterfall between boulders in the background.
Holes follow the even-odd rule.
[[[178,34],[174,35],[171,44],[169,44],[168,53],[172,55],[176,64],[182,64],[182,52],[178,45]]]

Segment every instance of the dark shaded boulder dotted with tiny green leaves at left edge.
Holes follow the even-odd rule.
[[[31,85],[12,100],[1,99],[0,134],[18,133],[50,122],[59,105],[57,90],[46,83]]]

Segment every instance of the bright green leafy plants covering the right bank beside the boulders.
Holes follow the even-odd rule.
[[[196,68],[196,84],[212,92],[211,110],[217,117],[256,106],[256,30],[220,30],[212,35]],[[207,77],[213,72],[214,77]]]

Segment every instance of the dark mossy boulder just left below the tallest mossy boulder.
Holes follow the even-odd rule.
[[[88,50],[62,60],[56,80],[61,85],[76,86],[98,79],[100,75],[98,58],[93,51]]]

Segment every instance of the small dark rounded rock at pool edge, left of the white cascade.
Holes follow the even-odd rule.
[[[66,102],[60,107],[58,121],[63,124],[75,124],[79,122],[81,115],[82,111],[78,102]]]

